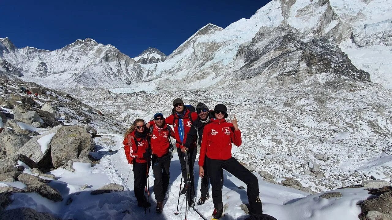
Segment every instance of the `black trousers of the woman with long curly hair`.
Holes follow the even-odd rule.
[[[147,184],[147,163],[133,163],[133,177],[135,179],[133,188],[138,201],[144,200],[144,188]]]

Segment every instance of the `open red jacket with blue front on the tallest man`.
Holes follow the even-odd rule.
[[[176,112],[171,114],[169,117],[165,119],[166,124],[171,124],[174,128],[174,138],[176,139],[176,147],[177,148],[184,148],[185,147],[185,142],[187,140],[187,133],[189,130],[191,130],[192,126],[192,121],[196,121],[198,118],[198,115],[196,112],[191,112],[190,116],[192,118],[192,121],[189,119],[189,110],[185,109],[183,113],[183,117],[180,117],[183,120],[183,141],[181,141],[180,138],[180,133],[178,132],[178,126],[179,126],[179,116],[177,115]],[[155,124],[154,121],[150,121],[149,124],[153,125]],[[196,142],[191,144],[191,147],[195,147]]]

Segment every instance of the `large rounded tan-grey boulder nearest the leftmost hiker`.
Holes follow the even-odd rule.
[[[55,168],[68,160],[87,157],[95,142],[82,126],[64,126],[58,129],[51,143],[52,162]]]

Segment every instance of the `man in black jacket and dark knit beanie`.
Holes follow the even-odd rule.
[[[191,148],[191,144],[198,140],[198,144],[201,145],[201,137],[203,136],[203,130],[204,126],[206,124],[209,124],[211,122],[212,115],[209,114],[209,110],[207,105],[204,103],[199,103],[196,106],[196,113],[198,114],[198,119],[193,122],[191,130],[189,130],[187,134],[187,140],[185,142],[185,147],[186,148]],[[200,193],[201,196],[197,202],[198,206],[202,205],[205,203],[205,200],[210,198],[210,195],[208,193],[208,169],[207,167],[203,166],[204,168],[204,177],[201,177],[201,183],[200,183]],[[223,170],[221,169],[221,182],[223,185]]]

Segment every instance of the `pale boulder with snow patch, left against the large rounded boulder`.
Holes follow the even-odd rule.
[[[45,154],[49,153],[49,145],[52,137],[61,127],[62,125],[60,124],[41,135],[34,136],[18,150],[18,153],[26,155],[34,162],[39,163],[42,159],[44,159]],[[43,145],[42,147],[41,144]],[[45,144],[48,148],[45,148]],[[44,153],[42,153],[42,151],[44,151]]]

